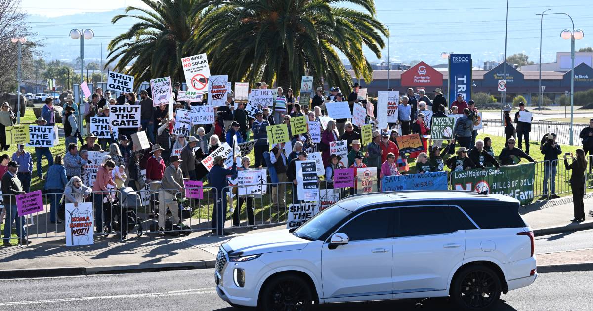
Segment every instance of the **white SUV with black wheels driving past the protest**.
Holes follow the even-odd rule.
[[[353,195],[298,229],[231,239],[216,257],[218,295],[232,306],[451,296],[494,306],[537,278],[534,235],[519,202],[473,191]]]

